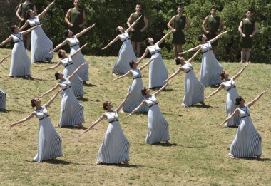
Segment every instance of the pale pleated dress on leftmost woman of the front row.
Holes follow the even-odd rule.
[[[45,107],[34,111],[39,118],[38,153],[34,157],[35,162],[51,160],[62,156],[62,139],[53,127],[48,111]]]

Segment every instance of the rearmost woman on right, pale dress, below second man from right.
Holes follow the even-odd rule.
[[[200,69],[200,82],[203,83],[203,86],[215,86],[220,84],[222,80],[220,79],[220,73],[223,71],[223,66],[218,62],[215,58],[215,54],[212,50],[212,43],[218,40],[223,34],[228,31],[224,31],[223,33],[218,34],[215,38],[207,41],[207,37],[204,34],[198,36],[198,41],[201,42],[199,46],[195,48],[191,48],[188,51],[184,51],[180,53],[181,55],[188,53],[190,51],[196,51],[199,48],[202,48],[203,58],[201,61],[201,69]]]

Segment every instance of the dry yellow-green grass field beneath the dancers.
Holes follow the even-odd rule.
[[[0,58],[11,53],[1,49]],[[84,87],[87,101],[81,101],[85,110],[85,127],[99,118],[102,103],[110,100],[115,107],[126,95],[132,78],[113,81],[111,69],[116,57],[86,56],[90,62],[90,83]],[[53,59],[56,63],[58,59]],[[146,61],[146,60],[145,60]],[[160,110],[170,124],[170,142],[173,145],[145,144],[148,132],[147,115],[120,113],[120,123],[131,143],[131,167],[121,165],[96,165],[108,123],[96,125],[88,133],[78,128],[58,128],[61,98],[58,96],[48,108],[51,121],[63,139],[63,157],[54,161],[34,162],[39,120],[10,128],[16,120],[26,117],[34,108],[30,100],[48,91],[56,84],[55,71],[42,71],[48,63],[31,64],[34,80],[9,78],[10,58],[0,65],[0,88],[7,93],[8,113],[0,113],[0,185],[271,185],[271,95],[267,92],[251,108],[251,118],[262,136],[262,160],[234,159],[227,154],[235,138],[235,128],[220,127],[225,119],[226,92],[220,91],[206,101],[211,108],[195,105],[183,108],[185,73],[176,77],[167,91],[160,93]],[[165,60],[169,73],[178,67],[175,61]],[[243,64],[223,63],[230,76]],[[199,77],[200,63],[193,63]],[[62,69],[62,66],[61,68]],[[252,63],[235,83],[247,102],[270,88],[271,65]],[[148,69],[143,70],[143,83],[148,85]],[[205,88],[209,95],[215,88]],[[53,93],[46,95],[43,103]]]

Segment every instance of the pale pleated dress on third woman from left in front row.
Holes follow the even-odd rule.
[[[160,141],[170,140],[169,135],[169,125],[168,122],[163,117],[158,106],[157,99],[155,95],[150,95],[150,97],[145,98],[148,105],[148,134],[145,138],[145,142],[148,144],[153,144]]]

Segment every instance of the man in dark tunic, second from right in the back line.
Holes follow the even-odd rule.
[[[210,16],[206,16],[203,21],[203,31],[205,32],[207,36],[207,40],[209,41],[212,38],[215,38],[215,36],[218,36],[218,33],[223,30],[223,23],[219,16],[216,15],[216,9],[213,6],[210,9]],[[216,52],[216,47],[218,46],[218,41],[215,41],[212,43],[213,47],[213,53]]]

